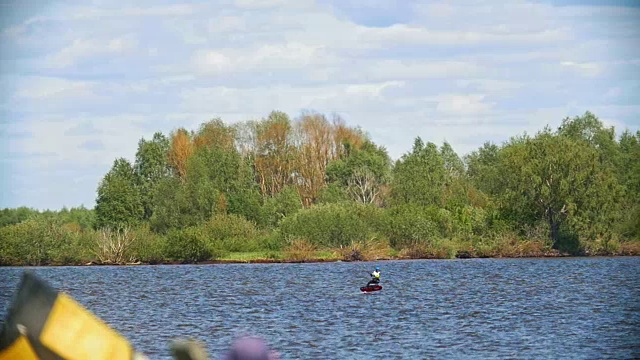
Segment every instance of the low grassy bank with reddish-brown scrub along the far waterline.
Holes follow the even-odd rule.
[[[103,265],[177,265],[177,264],[247,264],[247,263],[321,263],[418,259],[472,258],[554,258],[594,256],[640,256],[640,241],[612,242],[585,246],[581,251],[559,251],[546,240],[517,240],[469,242],[436,241],[395,249],[387,242],[354,242],[339,248],[318,248],[307,241],[293,241],[279,250],[211,251],[208,256],[184,259],[169,256],[161,243],[145,243],[132,248],[129,255],[118,256],[119,261],[95,256],[84,248],[81,256],[51,256],[41,261],[24,258],[5,259],[0,266],[103,266]],[[151,245],[151,246],[150,246]],[[153,246],[155,245],[155,246]],[[67,252],[71,254],[71,252]],[[7,261],[9,260],[9,261]]]

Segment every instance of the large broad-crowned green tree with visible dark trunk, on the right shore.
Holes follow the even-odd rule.
[[[606,214],[615,211],[617,181],[594,148],[547,128],[534,138],[512,139],[499,157],[503,207],[520,222],[546,221],[556,248],[578,250],[562,241],[569,239],[563,225],[579,234],[607,232],[597,225],[611,225]]]

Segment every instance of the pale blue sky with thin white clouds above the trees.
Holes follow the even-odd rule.
[[[138,141],[339,114],[392,159],[640,128],[640,1],[0,0],[0,208],[95,205]]]

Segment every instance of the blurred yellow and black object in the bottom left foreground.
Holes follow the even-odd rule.
[[[0,360],[146,358],[69,295],[24,272],[0,332]]]

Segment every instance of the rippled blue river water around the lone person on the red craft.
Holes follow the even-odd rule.
[[[2,317],[25,269],[0,268]],[[242,334],[281,359],[640,358],[639,257],[28,269],[151,359]]]

